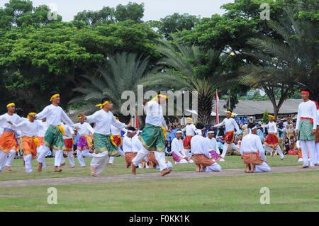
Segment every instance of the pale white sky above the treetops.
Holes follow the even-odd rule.
[[[115,8],[118,4],[126,5],[129,1],[145,4],[143,21],[158,21],[159,18],[173,13],[189,13],[189,15],[201,17],[211,17],[215,13],[223,14],[224,11],[220,9],[220,6],[234,0],[33,0],[33,6],[55,4],[57,13],[62,16],[62,21],[72,21],[80,11],[97,11],[103,6]],[[4,8],[7,2],[9,0],[0,0],[0,7]]]

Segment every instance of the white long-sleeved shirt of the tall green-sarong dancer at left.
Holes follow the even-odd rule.
[[[49,125],[58,126],[61,125],[61,121],[72,128],[74,128],[74,123],[72,120],[67,116],[65,111],[60,106],[54,106],[53,104],[50,104],[49,106],[46,106],[43,111],[36,114],[35,117],[37,119],[43,119],[46,118],[46,122]]]

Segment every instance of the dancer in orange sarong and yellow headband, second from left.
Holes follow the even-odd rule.
[[[13,130],[21,130],[23,135],[23,161],[27,173],[32,172],[31,162],[37,156],[37,146],[39,142],[36,135],[40,127],[37,121],[35,121],[33,118],[30,118],[30,115],[35,114],[36,113],[33,112],[28,113],[28,120],[23,120],[18,124],[8,121]]]

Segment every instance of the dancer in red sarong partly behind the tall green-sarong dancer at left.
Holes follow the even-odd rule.
[[[65,142],[65,152],[67,152],[67,159],[69,159],[69,164],[71,168],[73,169],[74,164],[74,155],[73,155],[73,134],[74,130],[65,123],[62,123],[63,130],[65,131],[65,135],[63,135],[63,141]],[[61,166],[65,166],[65,157],[61,156]]]

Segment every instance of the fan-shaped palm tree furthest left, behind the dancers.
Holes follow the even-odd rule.
[[[123,52],[111,56],[106,67],[99,67],[97,77],[82,75],[82,87],[74,89],[82,95],[69,103],[85,103],[79,111],[93,113],[96,111],[95,105],[108,96],[113,102],[112,112],[118,114],[121,121],[127,122],[131,115],[122,114],[121,107],[125,100],[121,96],[124,91],[136,91],[138,81],[147,74],[147,66],[148,57],[142,59],[134,53]]]

